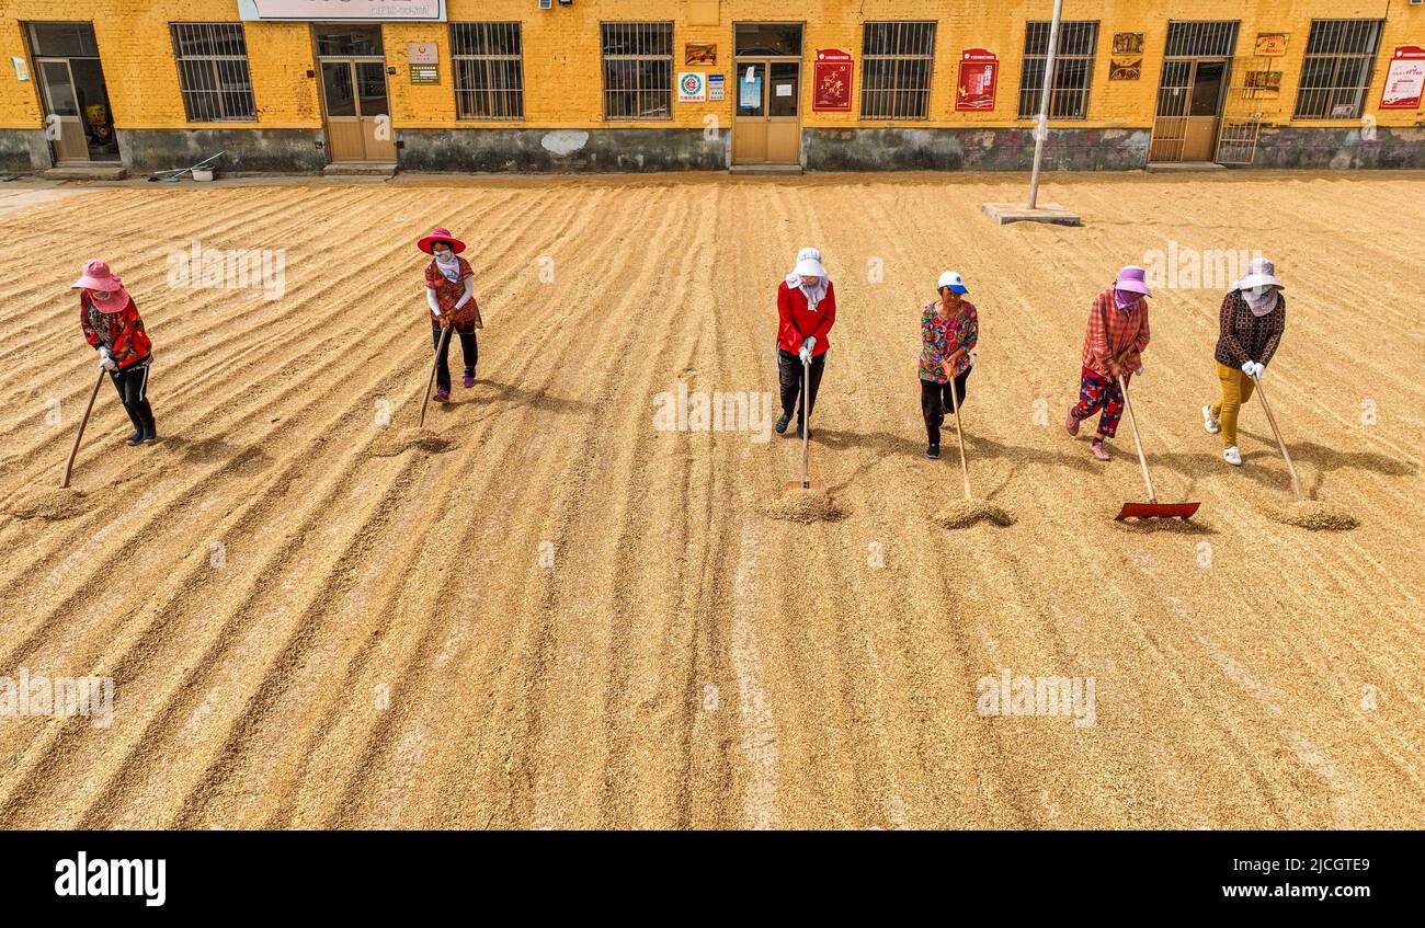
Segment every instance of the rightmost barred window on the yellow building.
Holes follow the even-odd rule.
[[[1384,20],[1311,20],[1297,120],[1359,120]]]

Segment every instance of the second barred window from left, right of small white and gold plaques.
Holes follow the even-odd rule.
[[[457,120],[524,118],[519,23],[450,23]]]

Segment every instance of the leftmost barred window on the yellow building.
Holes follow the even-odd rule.
[[[252,75],[242,23],[171,23],[178,88],[190,122],[252,122]]]

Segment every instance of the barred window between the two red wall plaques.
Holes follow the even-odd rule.
[[[866,23],[861,40],[861,118],[931,114],[935,23]]]

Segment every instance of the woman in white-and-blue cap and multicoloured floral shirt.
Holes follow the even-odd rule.
[[[965,280],[953,270],[940,275],[940,299],[921,312],[921,414],[929,444],[925,457],[940,457],[945,411],[965,404],[965,381],[975,367],[979,315],[963,295]],[[950,390],[955,396],[950,396]]]

